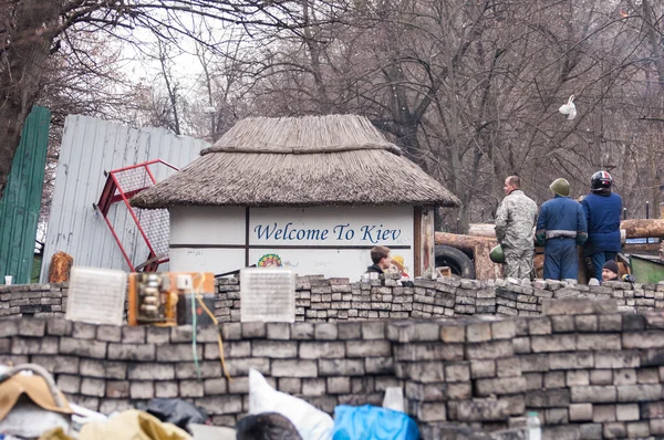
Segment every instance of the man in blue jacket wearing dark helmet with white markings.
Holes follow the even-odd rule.
[[[613,178],[606,171],[598,171],[590,179],[590,193],[581,205],[588,219],[588,241],[583,255],[589,256],[594,266],[594,277],[602,279],[602,266],[615,260],[621,251],[620,213],[622,198],[611,191]]]

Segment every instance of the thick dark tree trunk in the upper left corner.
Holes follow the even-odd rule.
[[[13,27],[2,36],[0,52],[0,198],[7,186],[21,130],[38,98],[46,70],[51,44],[56,34],[60,2],[22,0],[13,10]]]

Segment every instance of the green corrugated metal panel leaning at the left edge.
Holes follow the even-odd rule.
[[[30,282],[50,123],[48,108],[32,107],[11,164],[0,200],[0,283],[2,275],[12,275],[14,284]]]

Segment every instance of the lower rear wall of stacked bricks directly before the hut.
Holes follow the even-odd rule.
[[[66,284],[0,286],[1,317],[64,316]],[[458,317],[468,315],[535,316],[544,298],[594,297],[615,301],[621,312],[664,310],[664,283],[609,282],[602,286],[564,282],[438,279],[415,280],[414,287],[395,280],[350,283],[347,279],[298,277],[295,318],[307,322]],[[240,321],[237,279],[217,281],[215,314],[220,322]]]

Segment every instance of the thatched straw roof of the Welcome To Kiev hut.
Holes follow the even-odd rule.
[[[242,119],[132,205],[454,207],[459,201],[401,156],[369,119],[335,115]]]

